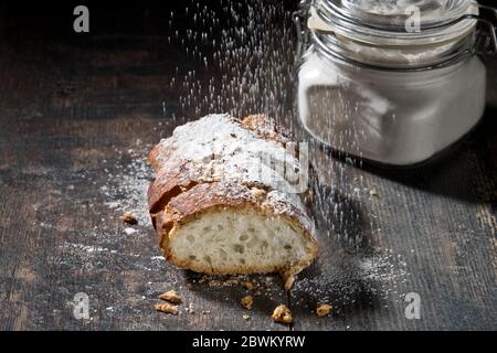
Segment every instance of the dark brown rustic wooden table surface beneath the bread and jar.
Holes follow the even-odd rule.
[[[145,208],[146,157],[176,126],[212,107],[240,115],[265,109],[292,125],[290,95],[272,89],[292,81],[282,78],[292,71],[290,45],[282,44],[293,33],[288,19],[275,21],[264,42],[273,43],[264,47],[273,56],[258,62],[263,69],[252,68],[274,73],[267,65],[278,60],[279,76],[262,79],[260,104],[250,105],[229,99],[234,86],[222,84],[240,66],[204,65],[168,39],[175,26],[167,20],[157,30],[159,17],[136,15],[148,23],[139,31],[117,26],[87,35],[22,31],[3,18],[1,330],[497,329],[496,61],[487,63],[482,124],[432,165],[355,165],[311,143],[319,259],[290,295],[277,277],[251,278],[261,293],[245,320],[239,300],[246,289],[203,282],[160,257]],[[210,108],[209,92],[192,83],[207,87],[211,78],[226,96]],[[138,215],[138,225],[123,223],[126,211]],[[183,297],[179,315],[152,309],[168,289]],[[73,314],[77,292],[89,296],[88,320]],[[404,312],[412,292],[421,299],[417,320]],[[332,314],[317,318],[318,301],[332,304]],[[190,303],[193,313],[184,310]],[[279,303],[294,312],[290,327],[269,318]]]

